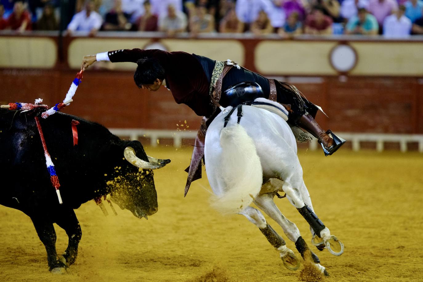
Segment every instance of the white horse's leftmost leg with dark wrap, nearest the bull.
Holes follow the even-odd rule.
[[[266,222],[263,214],[256,208],[247,207],[239,214],[244,215],[247,219],[257,226],[261,233],[266,236],[267,241],[280,253],[283,265],[289,270],[297,270],[299,268],[299,260],[295,257],[294,252],[286,247],[286,243],[275,230]]]

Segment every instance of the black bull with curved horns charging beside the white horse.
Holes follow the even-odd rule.
[[[71,120],[80,122],[76,146]],[[77,257],[82,232],[74,209],[82,203],[110,194],[111,200],[139,218],[157,212],[153,172],[128,162],[124,158],[125,148],[134,149],[135,159],[148,164],[155,160],[153,168],[162,167],[170,160],[151,158],[150,163],[140,142],[121,140],[104,126],[75,116],[57,113],[47,119],[40,118],[40,122],[60,181],[63,204],[59,204],[50,182],[34,116],[3,109],[0,110],[0,204],[30,216],[46,247],[49,269],[60,270],[74,263]],[[63,253],[66,262],[57,257],[53,223],[69,236]]]

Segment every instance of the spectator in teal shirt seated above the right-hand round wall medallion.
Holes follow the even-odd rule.
[[[376,17],[369,14],[365,8],[359,8],[358,15],[353,16],[346,24],[346,34],[376,35],[378,32]]]

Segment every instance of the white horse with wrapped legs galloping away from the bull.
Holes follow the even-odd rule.
[[[264,102],[273,112],[243,105],[241,110],[238,107],[229,113],[221,112],[207,129],[204,153],[207,177],[216,195],[212,204],[224,213],[246,216],[280,252],[284,266],[297,270],[299,260],[294,252],[267,224],[263,214],[250,206],[255,203],[283,228],[303,259],[310,257],[322,273],[329,275],[308,248],[297,226],[284,217],[273,202],[278,191],[285,192],[289,202],[310,224],[312,243],[320,250],[327,248],[333,255],[342,254],[341,241],[330,234],[313,212],[310,194],[302,179],[297,142],[286,123],[288,112],[280,104]]]

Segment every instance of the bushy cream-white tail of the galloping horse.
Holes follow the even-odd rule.
[[[239,213],[247,208],[260,192],[263,170],[255,145],[247,131],[236,124],[220,132],[222,148],[219,177],[225,187],[223,193],[212,200],[222,213]]]

